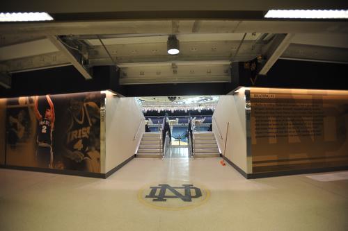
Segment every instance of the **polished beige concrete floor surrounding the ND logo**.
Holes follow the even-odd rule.
[[[136,158],[106,180],[0,169],[0,230],[348,230],[337,173],[246,180],[219,158]],[[141,189],[166,183],[209,195],[188,209],[144,203]]]

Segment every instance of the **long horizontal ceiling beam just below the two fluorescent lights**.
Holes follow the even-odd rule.
[[[195,20],[180,20],[177,33],[192,33]],[[199,33],[341,33],[348,22],[277,20],[200,20]],[[88,22],[40,22],[1,24],[1,35],[111,35],[172,33],[171,20],[120,20]]]

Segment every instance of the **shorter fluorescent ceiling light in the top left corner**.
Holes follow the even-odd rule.
[[[47,12],[1,12],[0,22],[52,21]]]

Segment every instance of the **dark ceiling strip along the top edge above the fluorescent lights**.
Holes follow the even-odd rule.
[[[69,14],[88,12],[159,12],[159,11],[203,11],[203,10],[244,10],[257,11],[269,9],[346,9],[347,1],[340,0],[303,0],[303,1],[279,1],[279,0],[209,0],[187,1],[176,0],[168,3],[161,0],[12,0],[3,1],[0,4],[3,12],[29,12],[45,11],[50,13]]]

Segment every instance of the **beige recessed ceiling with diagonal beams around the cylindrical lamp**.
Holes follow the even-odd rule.
[[[225,6],[226,1],[218,2]],[[242,1],[236,2],[245,10]],[[260,3],[255,7],[264,10]],[[71,9],[65,12],[69,15]],[[178,55],[166,52],[168,35],[180,41]],[[91,67],[115,65],[120,85],[228,83],[232,62],[257,57],[264,60],[260,74],[267,74],[278,59],[348,64],[348,22],[179,18],[0,24],[2,74],[74,65],[88,79],[93,78]]]

